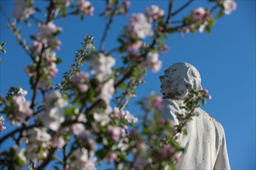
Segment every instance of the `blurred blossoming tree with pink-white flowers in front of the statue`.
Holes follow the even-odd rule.
[[[143,83],[147,70],[161,69],[159,53],[168,50],[164,39],[175,33],[210,32],[215,19],[229,15],[236,8],[232,0],[209,0],[212,8],[195,8],[182,21],[171,25],[179,12],[192,4],[188,0],[182,7],[173,10],[174,0],[167,3],[164,11],[157,5],[150,5],[144,12],[129,13],[130,2],[107,0],[106,10],[100,15],[106,17],[106,29],[100,42],[93,42],[92,36],[85,36],[81,49],[75,52],[74,64],[64,73],[60,83],[52,83],[58,72],[61,58],[62,32],[54,21],[70,15],[92,17],[93,3],[85,0],[49,0],[45,18],[38,19],[42,10],[32,0],[16,1],[9,19],[9,29],[20,46],[31,59],[26,66],[31,90],[10,87],[1,97],[2,116],[0,131],[9,131],[0,138],[0,145],[12,138],[11,148],[1,148],[0,168],[43,169],[47,165],[57,169],[95,169],[106,161],[113,168],[175,168],[176,154],[183,151],[175,141],[175,135],[185,131],[185,123],[194,116],[193,110],[209,98],[207,90],[191,91],[185,100],[188,116],[180,117],[182,125],[174,127],[171,121],[150,120],[152,111],[160,110],[161,97],[152,94],[138,104],[144,115],[138,118],[126,110],[126,104],[136,93],[136,87]],[[155,2],[157,4],[157,1]],[[213,12],[217,11],[216,18]],[[109,52],[105,49],[109,26],[116,15],[126,15],[130,21],[121,31],[119,46]],[[22,38],[20,22],[35,22],[38,30],[30,36],[29,46]],[[85,32],[86,33],[86,32]],[[5,42],[0,50],[5,53]],[[95,46],[99,46],[96,49]],[[118,53],[116,53],[118,52]],[[115,53],[115,56],[113,55]],[[116,65],[116,57],[122,56],[123,64]],[[89,72],[81,70],[87,64]],[[27,93],[33,93],[31,99]],[[11,130],[4,121],[10,121]],[[165,138],[163,138],[163,136]]]

